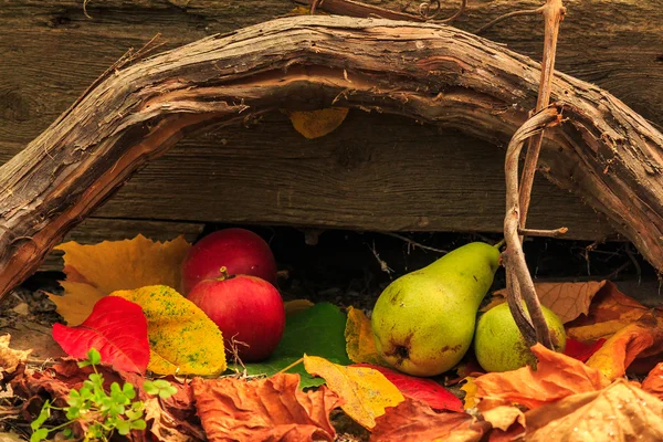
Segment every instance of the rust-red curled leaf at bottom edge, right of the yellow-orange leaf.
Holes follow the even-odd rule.
[[[370,442],[477,442],[490,428],[467,413],[436,413],[425,403],[407,398],[377,418]]]

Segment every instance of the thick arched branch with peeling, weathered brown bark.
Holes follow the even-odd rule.
[[[506,144],[535,107],[538,78],[537,63],[457,29],[338,17],[265,22],[119,69],[0,168],[0,293],[192,130],[334,103]],[[547,177],[663,270],[663,136],[569,76],[556,75],[551,99],[568,122],[546,131]]]

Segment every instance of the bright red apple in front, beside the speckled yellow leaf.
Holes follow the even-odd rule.
[[[243,362],[266,359],[281,341],[285,328],[283,299],[272,284],[260,277],[203,280],[187,298],[217,324],[227,350],[232,348],[233,339],[246,344],[235,345]]]

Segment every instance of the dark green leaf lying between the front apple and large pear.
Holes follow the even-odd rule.
[[[334,364],[350,365],[352,361],[346,352],[345,326],[347,317],[337,306],[318,303],[313,307],[287,318],[283,338],[270,359],[259,364],[246,364],[249,375],[272,376],[304,354],[319,356]],[[241,370],[241,366],[235,366]],[[303,364],[287,370],[299,373],[299,387],[316,387],[325,383],[322,378],[314,378],[304,369]]]

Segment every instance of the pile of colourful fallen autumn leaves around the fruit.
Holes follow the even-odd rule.
[[[303,117],[291,115],[295,126]],[[286,304],[285,332],[267,360],[227,362],[217,326],[177,292],[188,248],[141,236],[61,246],[67,281],[52,298],[69,325],[55,325],[53,337],[75,358],[97,348],[106,382],[138,389],[151,440],[334,441],[338,410],[373,442],[663,440],[661,312],[611,282],[537,286],[569,340],[565,354],[534,346],[536,369],[484,373],[467,355],[445,376],[423,379],[380,358],[364,311],[306,301]],[[490,305],[501,302],[498,292]],[[0,339],[2,383],[24,399],[25,419],[49,398],[65,406],[91,372],[73,358],[28,369],[28,352]],[[631,372],[648,376],[639,383]],[[177,393],[148,396],[141,386],[152,375]],[[146,436],[134,431],[129,440]]]

